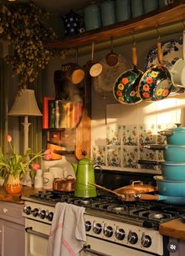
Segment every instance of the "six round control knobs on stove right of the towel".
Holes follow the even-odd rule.
[[[107,226],[106,224],[104,227],[100,223],[96,223],[94,221],[93,225],[91,224],[90,221],[85,221],[85,231],[89,232],[90,230],[93,230],[95,234],[100,234],[103,231],[103,235],[107,237],[111,237],[114,234],[114,230],[111,226]],[[115,237],[118,240],[123,240],[125,239],[125,230],[123,228],[116,228],[115,231]],[[131,244],[135,244],[138,241],[138,236],[136,232],[132,232],[132,230],[129,231],[129,235],[127,237],[127,240]],[[142,237],[141,237],[141,244],[143,247],[150,247],[151,246],[151,236],[145,235],[143,232]]]

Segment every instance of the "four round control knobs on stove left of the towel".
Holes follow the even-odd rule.
[[[24,213],[26,213],[27,215],[32,214],[34,217],[40,217],[42,220],[53,220],[53,212],[49,212],[48,210],[40,210],[38,208],[34,208],[34,210],[31,210],[31,206],[24,206]]]

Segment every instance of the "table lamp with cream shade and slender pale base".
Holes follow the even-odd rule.
[[[38,109],[38,104],[34,96],[34,90],[24,89],[16,95],[12,109],[9,110],[9,116],[24,117],[24,153],[28,149],[28,129],[31,123],[28,123],[28,117],[39,117],[42,113]]]

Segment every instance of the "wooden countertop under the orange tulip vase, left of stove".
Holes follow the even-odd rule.
[[[5,192],[4,188],[0,188],[0,201],[24,203],[24,201],[20,199],[21,195],[33,195],[33,194],[36,194],[38,191],[45,191],[45,190],[42,188],[24,186],[20,194],[9,195]]]

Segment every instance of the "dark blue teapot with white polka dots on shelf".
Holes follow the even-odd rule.
[[[71,9],[69,13],[60,17],[63,20],[65,36],[75,35],[80,32],[80,24],[79,24],[80,17],[78,13],[74,13],[74,11]]]

